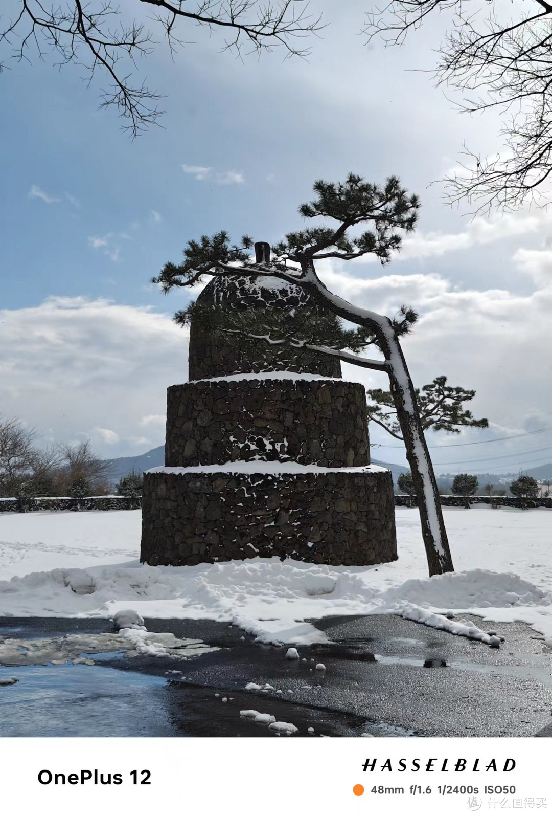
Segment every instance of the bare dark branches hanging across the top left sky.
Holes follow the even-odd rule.
[[[157,108],[161,95],[131,80],[136,59],[150,55],[156,42],[126,9],[121,12],[111,0],[60,0],[51,6],[42,0],[14,0],[14,6],[15,16],[0,28],[0,43],[12,46],[15,60],[29,60],[31,51],[41,60],[53,53],[56,65],[72,63],[84,69],[88,85],[99,72],[109,83],[100,107],[115,105],[128,122],[124,129],[136,135],[156,122],[162,113]],[[137,10],[148,6],[155,10],[152,22],[161,29],[173,59],[178,47],[189,43],[180,38],[179,24],[186,37],[192,26],[208,33],[219,30],[223,50],[237,55],[276,47],[287,56],[306,55],[298,39],[322,28],[320,17],[311,16],[303,0],[135,0]]]

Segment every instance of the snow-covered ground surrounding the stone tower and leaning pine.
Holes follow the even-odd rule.
[[[399,561],[328,567],[273,559],[193,567],[141,565],[140,512],[0,516],[0,616],[227,620],[267,642],[322,642],[305,623],[328,614],[391,612],[439,628],[435,612],[522,620],[552,644],[552,512],[444,508],[457,569],[427,578],[416,510],[396,508]],[[470,621],[464,634],[471,628]],[[471,636],[475,636],[475,631]]]

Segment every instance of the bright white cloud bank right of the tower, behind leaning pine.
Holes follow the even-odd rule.
[[[414,384],[420,387],[444,374],[453,385],[475,388],[477,394],[470,409],[476,417],[487,417],[495,426],[488,432],[467,432],[469,441],[479,441],[552,426],[552,362],[546,351],[552,309],[552,256],[548,251],[540,254],[517,251],[516,256],[532,269],[539,284],[528,295],[506,289],[461,290],[435,273],[359,279],[351,273],[339,272],[329,262],[320,265],[320,277],[338,295],[378,313],[392,316],[402,303],[419,311],[420,320],[413,335],[402,340]],[[355,272],[358,268],[355,265]],[[372,388],[386,384],[384,375],[374,372],[359,375],[359,371],[347,366],[344,374]],[[431,444],[435,445],[438,439],[430,437]],[[435,458],[439,462],[483,459],[536,448],[537,444],[528,444],[528,439],[531,437],[496,446],[450,449],[439,452],[438,459]],[[373,441],[399,444],[375,428]],[[456,440],[444,437],[439,444],[452,441]],[[545,451],[544,458],[537,463],[545,463],[548,453]],[[392,455],[402,456],[400,451],[391,453],[385,448],[373,455],[383,460]],[[531,459],[538,459],[538,454],[514,459],[513,469],[516,463]],[[552,454],[548,460],[552,460]],[[478,462],[472,469],[480,472],[486,468],[495,472],[512,469],[505,459]],[[440,471],[444,469],[439,465]],[[455,468],[451,465],[449,469]]]

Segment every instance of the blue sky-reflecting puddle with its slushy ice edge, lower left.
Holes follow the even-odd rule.
[[[177,736],[167,678],[148,671],[144,658],[182,666],[219,648],[144,629],[15,634],[0,636],[0,737]],[[109,665],[122,658],[126,671]],[[10,677],[17,682],[1,685]]]

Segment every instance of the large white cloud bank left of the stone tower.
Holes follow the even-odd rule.
[[[188,369],[188,332],[169,314],[49,298],[1,310],[0,325],[2,414],[56,441],[91,437],[108,458],[162,445],[153,418],[165,417],[166,388]]]

